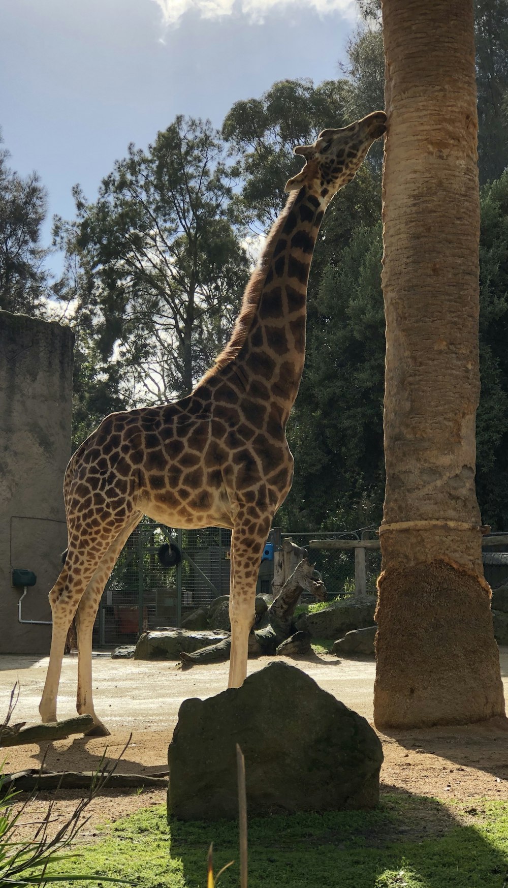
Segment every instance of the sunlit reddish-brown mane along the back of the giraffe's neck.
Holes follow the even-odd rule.
[[[284,222],[286,221],[286,218],[288,218],[291,207],[293,206],[297,197],[298,190],[290,192],[285,207],[283,208],[283,210],[281,210],[278,218],[276,218],[274,221],[274,225],[271,227],[269,233],[266,235],[265,246],[263,248],[261,256],[258,259],[258,265],[250,275],[250,281],[243,293],[242,307],[240,309],[238,317],[236,318],[236,321],[234,321],[234,328],[231,334],[231,338],[229,339],[226,347],[216,358],[213,367],[208,370],[207,373],[205,373],[204,377],[202,377],[201,382],[204,382],[206,379],[215,376],[215,374],[218,373],[218,370],[226,367],[226,364],[229,364],[231,361],[233,361],[236,355],[240,352],[240,349],[242,348],[242,345],[247,338],[250,327],[252,326],[254,316],[258,311],[259,300],[263,293],[263,286],[266,280],[266,274],[268,272],[270,262],[273,258],[274,249],[277,241],[279,240],[279,235],[281,234]]]

